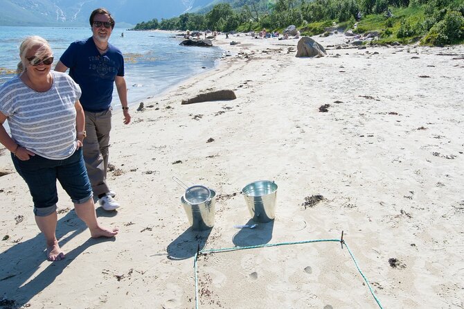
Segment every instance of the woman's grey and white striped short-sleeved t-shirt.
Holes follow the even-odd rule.
[[[60,160],[76,148],[75,103],[82,92],[68,74],[51,71],[45,92],[30,89],[19,76],[0,87],[0,112],[8,118],[11,137],[41,157]]]

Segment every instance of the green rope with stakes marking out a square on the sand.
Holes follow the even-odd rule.
[[[359,268],[359,265],[357,264],[356,258],[353,255],[353,253],[350,250],[350,247],[348,247],[348,244],[343,240],[343,231],[341,231],[341,238],[340,239],[316,239],[316,240],[303,240],[303,241],[296,241],[296,242],[279,242],[275,244],[265,244],[265,245],[256,245],[256,246],[247,246],[247,247],[231,247],[231,248],[222,248],[222,249],[202,249],[197,251],[195,254],[195,259],[193,260],[193,269],[195,272],[195,309],[198,309],[198,272],[197,272],[197,258],[200,254],[206,254],[206,253],[217,253],[217,252],[227,252],[227,251],[237,251],[237,250],[244,250],[244,249],[256,249],[256,248],[264,248],[264,247],[277,247],[277,246],[283,246],[283,245],[299,245],[299,244],[307,244],[310,242],[340,242],[341,243],[341,249],[343,249],[343,244],[345,245],[346,249],[348,250],[348,253],[350,254],[351,258],[353,258],[353,262],[355,262],[355,266],[361,274],[362,278],[366,282],[369,290],[371,291],[372,296],[374,297],[375,301],[377,302],[377,305],[379,305],[380,309],[383,309],[382,304],[380,303],[380,300],[377,299],[377,296],[375,296],[375,292],[373,288],[371,287],[371,284],[369,284],[369,281],[367,280],[366,276],[364,276],[363,272]],[[199,248],[199,247],[198,247]]]

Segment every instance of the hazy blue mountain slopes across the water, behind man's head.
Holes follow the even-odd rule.
[[[197,12],[220,0],[0,0],[0,26],[89,26],[89,15],[107,8],[116,26]]]

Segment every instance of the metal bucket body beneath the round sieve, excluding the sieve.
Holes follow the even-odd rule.
[[[186,211],[190,227],[195,231],[204,231],[214,226],[214,213],[216,202],[216,191],[209,189],[211,192],[209,200],[199,204],[190,204],[181,196],[181,204]]]

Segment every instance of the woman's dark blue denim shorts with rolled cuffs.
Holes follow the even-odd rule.
[[[37,154],[26,161],[19,160],[13,154],[11,157],[18,174],[28,184],[35,215],[44,217],[56,211],[57,179],[74,204],[82,204],[91,199],[92,188],[85,169],[82,148],[63,160],[46,159]]]

